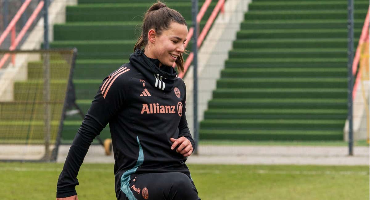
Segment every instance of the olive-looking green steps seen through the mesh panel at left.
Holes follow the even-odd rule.
[[[37,57],[38,55],[34,54]],[[18,57],[21,57],[18,55]],[[41,56],[40,56],[41,57]],[[59,54],[50,55],[50,142],[53,144],[63,110],[70,64]],[[40,67],[41,65],[41,67]],[[15,81],[12,101],[0,104],[0,143],[44,144],[45,107],[42,63],[27,64],[27,80]],[[22,76],[22,75],[21,75]]]

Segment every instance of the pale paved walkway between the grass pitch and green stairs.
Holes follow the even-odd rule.
[[[63,163],[69,150],[61,145],[57,162]],[[323,146],[199,146],[199,155],[192,155],[186,163],[196,164],[302,164],[302,165],[369,165],[369,147]],[[105,156],[100,145],[92,145],[84,163],[114,163],[112,155]]]

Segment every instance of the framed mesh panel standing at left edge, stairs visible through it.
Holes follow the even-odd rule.
[[[0,79],[0,160],[57,158],[75,50],[0,51],[16,64]]]

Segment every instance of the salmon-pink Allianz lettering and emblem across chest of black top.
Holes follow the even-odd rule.
[[[159,105],[159,103],[143,103],[141,114],[155,114],[155,113],[176,113],[176,106]],[[177,113],[182,115],[182,103],[177,103]]]

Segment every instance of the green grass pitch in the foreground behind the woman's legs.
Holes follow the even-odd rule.
[[[0,199],[55,199],[60,163],[0,163]],[[202,200],[369,199],[369,166],[189,165]],[[80,200],[114,200],[113,164],[83,164]]]

